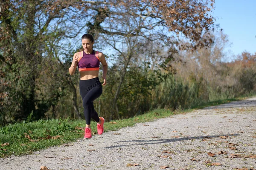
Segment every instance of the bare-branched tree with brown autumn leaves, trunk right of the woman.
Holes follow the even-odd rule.
[[[180,48],[188,50],[212,43],[209,37],[204,38],[202,34],[214,28],[214,19],[209,14],[214,0],[109,0],[90,3],[94,15],[87,23],[88,30],[98,37],[99,42],[116,51],[114,59],[121,66],[112,108],[116,108],[131,60],[143,55],[143,42],[160,41],[164,45],[177,47],[179,37],[183,36],[190,43]],[[162,62],[170,56],[163,56]],[[111,113],[110,119],[114,111]]]

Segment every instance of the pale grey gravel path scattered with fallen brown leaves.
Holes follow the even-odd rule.
[[[251,98],[10,156],[0,159],[0,169],[256,169],[255,155],[256,98]]]

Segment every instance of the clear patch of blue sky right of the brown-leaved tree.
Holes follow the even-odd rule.
[[[256,0],[215,0],[213,16],[232,43],[230,55],[256,53]]]

